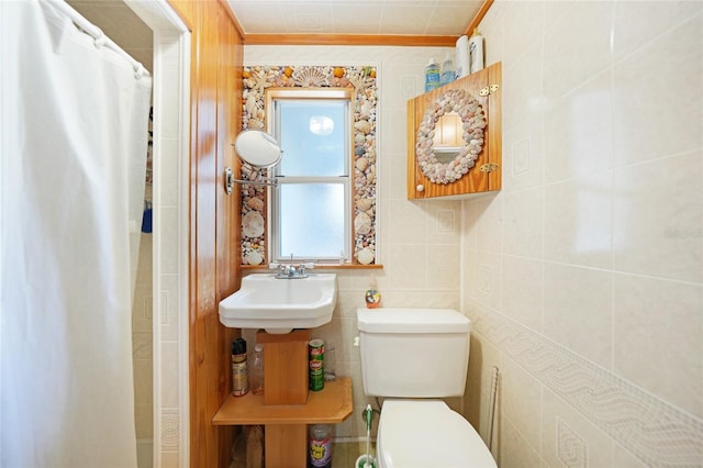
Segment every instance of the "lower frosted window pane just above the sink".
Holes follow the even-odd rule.
[[[343,183],[281,183],[279,186],[281,260],[338,258],[344,250]]]

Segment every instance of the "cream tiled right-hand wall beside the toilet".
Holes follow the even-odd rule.
[[[501,467],[703,464],[702,12],[499,0],[481,24],[503,190],[462,205],[466,414],[486,434],[499,366]]]

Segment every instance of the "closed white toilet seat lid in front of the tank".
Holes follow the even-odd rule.
[[[386,400],[377,438],[379,467],[496,467],[481,436],[442,400]]]

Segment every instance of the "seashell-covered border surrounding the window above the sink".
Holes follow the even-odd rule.
[[[354,243],[348,263],[372,265],[376,258],[376,118],[378,86],[371,66],[246,66],[243,70],[242,130],[265,130],[267,88],[354,88]],[[283,148],[284,149],[284,148]],[[246,165],[243,177],[255,178]],[[261,186],[242,185],[242,264],[265,265],[266,197]],[[348,253],[346,254],[349,255]]]

